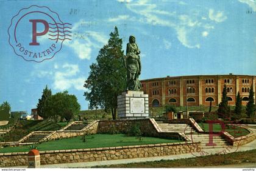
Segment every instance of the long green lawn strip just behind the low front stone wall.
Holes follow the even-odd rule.
[[[133,146],[142,144],[159,144],[159,143],[177,143],[179,140],[163,139],[155,137],[143,137],[143,141],[138,142],[135,136],[126,136],[124,134],[96,134],[86,136],[86,142],[82,140],[82,136],[69,139],[59,139],[36,144],[38,150],[66,150],[66,149],[87,149],[97,147],[116,147],[116,146]],[[4,147],[0,149],[0,153],[9,152],[27,152],[29,146],[20,147]]]

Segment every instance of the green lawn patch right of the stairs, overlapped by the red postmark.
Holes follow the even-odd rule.
[[[202,127],[202,123],[199,123],[199,126]],[[209,131],[209,124],[204,123],[204,130],[207,132]],[[213,131],[214,132],[221,131],[221,125],[213,124]],[[225,131],[230,133],[230,135],[232,135],[233,137],[243,136],[243,135],[247,135],[248,133],[250,133],[248,130],[243,129],[241,127],[229,126],[229,125],[225,126]]]

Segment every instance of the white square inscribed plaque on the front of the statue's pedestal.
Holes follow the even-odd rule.
[[[130,113],[144,113],[144,98],[130,98]]]

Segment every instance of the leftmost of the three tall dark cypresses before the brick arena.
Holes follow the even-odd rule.
[[[224,85],[224,89],[222,91],[222,98],[221,98],[221,103],[219,104],[218,115],[219,115],[219,118],[223,118],[223,119],[229,118],[229,115],[230,115],[230,107],[227,99],[226,84]]]

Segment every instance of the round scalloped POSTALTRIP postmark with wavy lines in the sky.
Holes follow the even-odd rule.
[[[9,44],[26,61],[52,59],[71,40],[71,24],[62,22],[48,7],[31,5],[13,16],[8,29]]]

